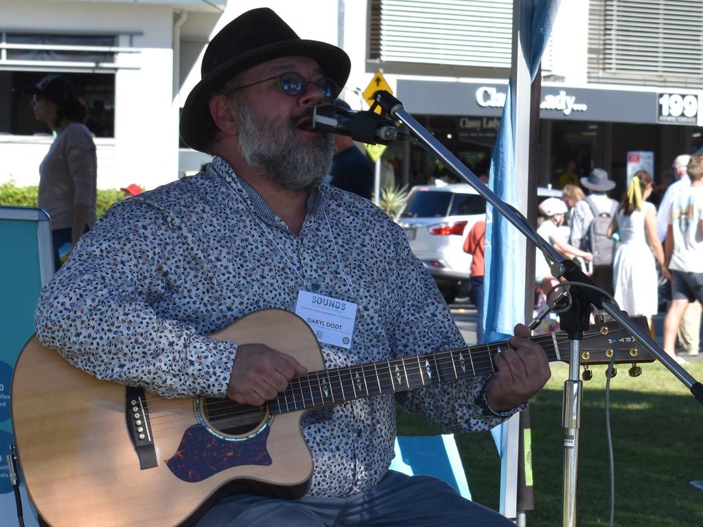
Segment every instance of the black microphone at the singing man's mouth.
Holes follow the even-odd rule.
[[[315,108],[312,114],[312,129],[350,136],[369,145],[387,145],[391,141],[417,142],[406,132],[397,129],[393,120],[388,117],[369,110],[355,112],[332,105]]]

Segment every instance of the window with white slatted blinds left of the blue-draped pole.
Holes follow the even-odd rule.
[[[368,60],[510,68],[512,0],[370,0]]]

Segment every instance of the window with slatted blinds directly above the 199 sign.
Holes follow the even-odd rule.
[[[703,0],[591,0],[588,80],[703,86]]]

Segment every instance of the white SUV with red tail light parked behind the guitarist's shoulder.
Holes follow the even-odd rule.
[[[561,195],[561,190],[537,189],[539,201]],[[448,303],[468,294],[472,256],[464,252],[464,240],[485,215],[484,198],[467,183],[455,183],[413,187],[396,218]]]

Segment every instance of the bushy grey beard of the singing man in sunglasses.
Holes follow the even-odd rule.
[[[239,107],[239,150],[247,164],[280,188],[305,192],[320,184],[332,169],[334,138],[311,138],[304,145],[295,137],[295,124],[309,112],[288,122],[254,115],[246,100]]]

